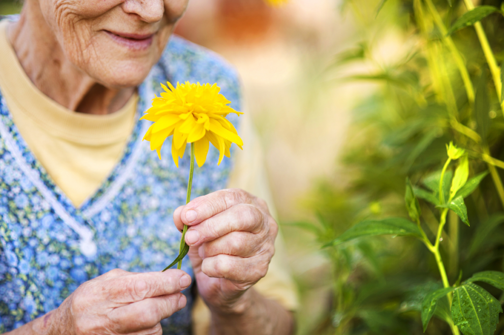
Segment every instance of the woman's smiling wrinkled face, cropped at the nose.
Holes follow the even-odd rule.
[[[188,0],[39,0],[65,56],[107,87],[139,85]]]

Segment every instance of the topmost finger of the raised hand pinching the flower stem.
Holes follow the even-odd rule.
[[[197,197],[185,205],[180,213],[180,220],[188,226],[197,225],[238,204],[252,204],[254,197],[237,189],[223,189]]]

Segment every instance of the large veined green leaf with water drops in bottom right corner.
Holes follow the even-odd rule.
[[[464,335],[492,335],[502,312],[490,293],[472,283],[455,289],[452,318]]]

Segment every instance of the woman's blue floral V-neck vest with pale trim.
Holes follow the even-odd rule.
[[[166,81],[217,83],[240,110],[234,70],[173,36],[139,87],[137,119]],[[237,118],[229,118],[236,125]],[[142,142],[149,125],[136,123],[120,162],[77,209],[30,152],[0,93],[0,332],[57,308],[79,285],[109,270],[160,271],[176,257],[180,233],[172,213],[185,204],[189,155],[177,169],[167,143],[160,161]],[[217,166],[218,156],[211,146],[207,163],[196,168],[193,198],[226,186],[231,163],[224,158]],[[187,257],[182,270],[194,275]],[[184,292],[187,307],[161,322],[164,333],[191,333],[192,291]]]

